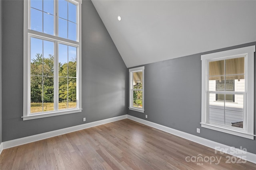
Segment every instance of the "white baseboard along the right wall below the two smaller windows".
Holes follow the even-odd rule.
[[[209,147],[209,148],[212,148],[212,149],[215,149],[215,150],[218,150],[218,151],[225,152],[225,153],[230,154],[232,156],[242,157],[245,160],[256,164],[256,154],[253,154],[253,153],[250,153],[250,152],[244,152],[241,149],[237,149],[237,148],[234,148],[234,147],[223,145],[221,143],[210,141],[208,139],[204,139],[204,138],[198,137],[196,135],[191,135],[189,133],[178,131],[176,129],[172,129],[170,127],[166,127],[166,126],[163,126],[163,125],[159,125],[159,124],[153,123],[151,121],[146,121],[144,119],[140,119],[138,117],[134,117],[134,116],[131,116],[131,115],[127,115],[127,118],[131,119],[133,121],[137,121],[139,123],[142,123],[144,125],[154,127],[154,128],[159,129],[161,131],[170,133],[172,135],[176,135],[178,137],[188,139],[188,140],[193,141],[195,143],[199,143],[199,144],[204,145],[206,147]]]

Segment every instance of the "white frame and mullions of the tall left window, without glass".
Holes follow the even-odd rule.
[[[77,5],[77,41],[58,37],[58,1],[54,0],[54,35],[34,31],[30,29],[30,0],[24,0],[24,70],[23,70],[23,120],[38,119],[42,117],[50,117],[56,115],[64,115],[70,113],[78,113],[82,111],[82,12],[81,4],[82,0],[67,0]],[[63,109],[58,110],[58,67],[54,66],[54,111],[30,113],[30,38],[38,38],[47,41],[54,42],[54,63],[58,63],[58,44],[62,43],[65,45],[73,46],[77,48],[77,82],[76,82],[76,93],[77,93],[77,107],[74,109]],[[57,80],[56,80],[57,79]],[[57,102],[57,103],[56,103]]]

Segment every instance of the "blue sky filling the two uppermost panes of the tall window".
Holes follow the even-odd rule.
[[[31,0],[31,29],[54,35],[54,0]],[[66,0],[58,1],[59,37],[76,41],[76,5]]]

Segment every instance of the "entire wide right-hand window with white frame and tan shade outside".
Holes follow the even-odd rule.
[[[255,46],[201,56],[201,126],[254,139]]]

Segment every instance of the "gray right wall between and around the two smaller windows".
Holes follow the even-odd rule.
[[[201,55],[250,45],[256,45],[256,42],[146,64],[144,70],[145,112],[139,113],[129,110],[128,114],[141,119],[146,119],[145,115],[148,115],[146,119],[148,121],[228,146],[236,148],[242,146],[246,148],[248,152],[256,154],[255,140],[206,129],[200,126]],[[256,68],[256,64],[254,65]],[[256,72],[254,75],[256,76]],[[256,90],[254,90],[254,101],[256,101],[255,94]],[[255,108],[254,122],[256,122]],[[196,128],[201,129],[200,134],[196,133]],[[255,131],[256,128],[254,124],[254,133]]]

